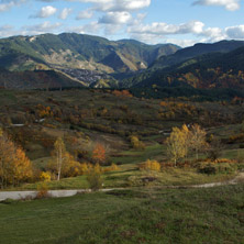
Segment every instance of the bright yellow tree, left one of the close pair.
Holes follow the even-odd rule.
[[[178,127],[173,127],[170,136],[166,140],[167,153],[175,166],[177,160],[186,156],[186,134]]]

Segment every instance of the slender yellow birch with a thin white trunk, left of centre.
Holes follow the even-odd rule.
[[[65,143],[62,137],[58,137],[57,141],[54,143],[54,151],[56,155],[57,180],[59,180],[62,174],[62,166],[66,153]]]

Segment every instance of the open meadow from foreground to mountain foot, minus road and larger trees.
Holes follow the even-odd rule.
[[[182,97],[145,99],[142,93],[102,89],[0,90],[0,103],[1,127],[35,169],[34,179],[4,190],[40,189],[59,136],[79,164],[93,164],[92,146],[103,145],[102,188],[113,189],[59,199],[45,195],[35,200],[7,199],[0,202],[0,243],[243,242],[243,177],[234,186],[191,188],[228,182],[243,170],[243,104]],[[195,123],[206,130],[217,158],[211,159],[208,149],[198,159],[191,152],[175,167],[166,138],[174,126]],[[219,143],[213,144],[213,138]],[[160,169],[143,169],[148,159]],[[112,164],[117,168],[108,170]],[[46,189],[90,188],[86,174],[55,177],[45,181]]]

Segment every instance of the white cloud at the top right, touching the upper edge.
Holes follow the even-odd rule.
[[[193,5],[222,5],[229,11],[240,9],[240,0],[198,0]]]

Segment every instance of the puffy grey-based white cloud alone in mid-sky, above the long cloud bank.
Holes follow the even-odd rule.
[[[103,24],[126,24],[132,20],[132,15],[129,12],[108,12],[103,15],[99,23]]]

